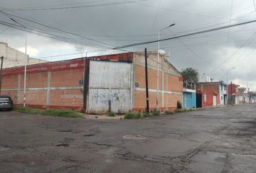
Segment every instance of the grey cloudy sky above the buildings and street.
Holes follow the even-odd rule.
[[[30,57],[48,61],[112,53],[109,48],[157,40],[158,31],[173,23],[161,31],[161,38],[256,19],[253,0],[1,0],[0,10],[0,41],[24,51],[27,30]],[[255,27],[256,22],[182,37],[160,47],[179,70],[197,68],[201,76],[215,80],[226,81],[228,69],[235,66],[229,80],[244,87],[248,81],[250,90],[256,90]],[[157,50],[158,44],[124,50],[144,48]]]

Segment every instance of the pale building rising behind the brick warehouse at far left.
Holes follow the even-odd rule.
[[[0,56],[4,56],[3,68],[24,66],[25,59],[27,57],[25,53],[22,53],[19,50],[15,50],[14,48],[9,47],[7,43],[3,42],[0,42]],[[47,61],[43,61],[36,58],[27,59],[27,65],[44,62]]]

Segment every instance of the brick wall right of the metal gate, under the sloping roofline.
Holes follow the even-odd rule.
[[[145,58],[142,53],[134,56],[134,101],[133,110],[145,110]],[[158,108],[175,109],[177,101],[182,102],[182,77],[179,71],[161,57],[159,66]],[[136,83],[139,86],[136,86]],[[157,53],[149,53],[148,87],[150,110],[156,108],[157,97]]]

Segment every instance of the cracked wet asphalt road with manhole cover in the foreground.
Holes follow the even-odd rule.
[[[255,146],[256,105],[149,120],[0,112],[1,173],[248,173],[256,172]]]

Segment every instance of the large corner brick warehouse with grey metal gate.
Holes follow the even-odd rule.
[[[159,63],[157,57],[157,52],[148,52],[150,110],[175,109],[177,102],[182,102],[182,75],[166,60],[166,55],[160,56]],[[10,95],[15,105],[24,102],[23,81],[24,67],[4,69],[2,93]],[[108,110],[143,112],[145,55],[144,52],[121,53],[30,65],[26,84],[25,104],[31,107],[85,110],[95,114]]]

